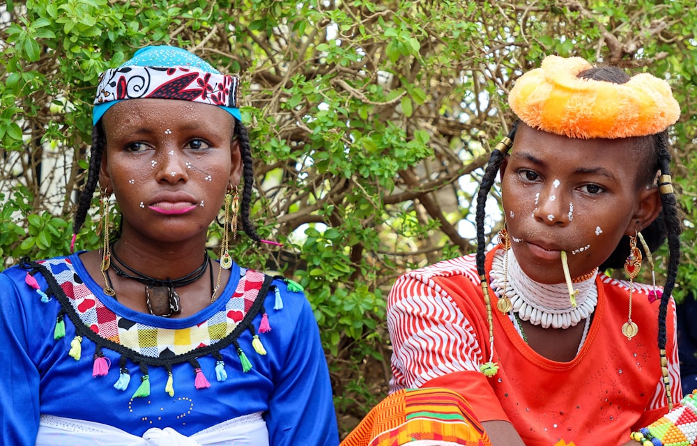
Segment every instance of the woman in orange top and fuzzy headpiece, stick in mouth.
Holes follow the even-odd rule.
[[[390,293],[392,392],[457,392],[468,424],[485,431],[480,444],[659,439],[655,429],[630,435],[682,397],[667,130],[680,107],[652,75],[558,56],[519,78],[509,103],[519,121],[482,180],[477,254],[408,272]],[[506,226],[485,254],[484,203],[498,174]],[[666,236],[661,295],[634,277]],[[604,274],[623,266],[627,280]]]

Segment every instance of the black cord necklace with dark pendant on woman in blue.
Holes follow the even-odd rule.
[[[183,277],[179,277],[178,279],[162,280],[155,279],[155,277],[150,277],[148,275],[144,275],[142,272],[134,270],[126,263],[124,263],[123,260],[118,258],[113,248],[112,257],[118,263],[121,263],[123,268],[129,270],[132,273],[128,274],[128,272],[125,272],[121,268],[118,268],[118,266],[116,266],[112,261],[110,266],[114,268],[114,271],[116,271],[116,275],[118,275],[119,277],[124,277],[125,279],[135,280],[137,282],[140,282],[141,284],[145,284],[145,302],[148,306],[148,310],[150,310],[151,314],[164,317],[171,316],[172,314],[181,313],[181,299],[179,298],[179,295],[176,292],[176,287],[189,285],[196,282],[198,279],[201,279],[201,277],[203,277],[203,275],[206,273],[206,269],[208,268],[208,265],[210,263],[208,251],[204,251],[204,262],[201,263],[201,266],[199,266],[199,268],[196,268],[189,274]],[[211,271],[212,270],[213,266],[211,266]]]

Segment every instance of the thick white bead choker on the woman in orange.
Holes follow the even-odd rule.
[[[499,298],[505,293],[511,300],[512,311],[522,321],[542,328],[573,327],[593,314],[598,303],[597,272],[590,279],[574,284],[579,294],[573,307],[566,284],[540,284],[530,279],[521,269],[513,249],[507,255],[503,249],[494,254],[490,275],[491,290]]]

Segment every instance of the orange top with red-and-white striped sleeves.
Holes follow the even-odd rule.
[[[487,274],[493,253],[487,256]],[[535,353],[493,295],[493,360],[498,374],[478,369],[489,360],[487,311],[474,256],[443,261],[399,278],[390,293],[392,390],[445,387],[462,394],[480,421],[507,420],[528,446],[560,441],[622,445],[629,433],[667,411],[657,346],[659,302],[636,285],[632,320],[638,334],[622,334],[628,283],[598,275],[598,304],[588,335],[571,362]],[[682,398],[675,339],[675,302],[668,307],[668,369],[673,401]]]

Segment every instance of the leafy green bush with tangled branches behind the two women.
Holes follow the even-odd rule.
[[[146,45],[190,49],[243,81],[253,218],[284,245],[241,237],[234,255],[305,286],[343,436],[388,390],[390,285],[473,251],[473,192],[514,119],[505,97],[546,54],[649,71],[673,86],[686,226],[675,296],[684,298],[697,280],[695,29],[686,0],[7,1],[0,269],[68,252],[99,73]],[[493,233],[503,224],[496,198]],[[96,220],[81,249],[98,247]],[[219,236],[212,227],[212,248]]]

